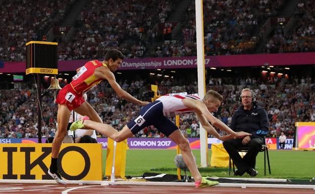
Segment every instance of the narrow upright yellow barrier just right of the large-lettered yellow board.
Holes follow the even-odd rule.
[[[107,142],[105,176],[111,177],[114,160],[114,140],[108,138]],[[114,166],[115,177],[125,178],[127,147],[127,139],[122,142],[116,143]]]

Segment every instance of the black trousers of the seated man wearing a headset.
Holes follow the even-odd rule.
[[[228,152],[233,160],[233,163],[240,172],[245,172],[249,168],[255,168],[256,156],[261,150],[261,146],[264,144],[264,140],[261,138],[251,139],[247,146],[242,144],[243,139],[230,139],[223,142],[225,150]],[[240,148],[248,148],[248,152],[242,158],[238,150]]]

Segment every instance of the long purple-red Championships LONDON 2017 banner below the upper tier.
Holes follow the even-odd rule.
[[[297,64],[314,64],[315,52],[280,53],[280,54],[240,54],[205,56],[205,67],[250,67],[250,66],[287,66]],[[60,60],[58,71],[75,71],[88,60]],[[157,58],[126,58],[119,70],[150,70],[150,69],[181,69],[196,68],[197,57],[157,57]],[[25,72],[25,62],[4,62],[0,73]]]

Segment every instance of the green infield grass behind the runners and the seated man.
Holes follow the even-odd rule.
[[[197,165],[200,164],[200,151],[193,150]],[[126,176],[141,176],[144,172],[177,174],[174,157],[176,150],[127,150]],[[211,150],[209,150],[209,157]],[[259,178],[296,178],[310,179],[315,177],[315,152],[269,150],[271,174],[264,175],[264,152],[256,159],[256,170]],[[103,150],[103,173],[105,171],[106,150]],[[199,168],[202,176],[229,177],[228,167]],[[182,174],[184,172],[182,171]],[[190,175],[190,173],[189,173]],[[234,177],[231,175],[231,177]],[[247,173],[243,177],[250,177]]]

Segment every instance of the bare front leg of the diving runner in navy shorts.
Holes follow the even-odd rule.
[[[173,132],[169,138],[180,147],[184,162],[194,177],[194,180],[201,181],[202,176],[191,152],[189,141],[183,136],[180,130]]]

